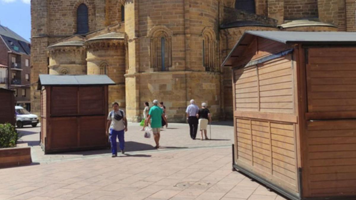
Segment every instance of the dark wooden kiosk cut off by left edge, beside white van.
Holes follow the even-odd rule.
[[[15,96],[13,90],[0,88],[0,123],[11,123],[15,126]]]

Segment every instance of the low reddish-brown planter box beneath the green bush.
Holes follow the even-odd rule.
[[[31,164],[31,147],[17,145],[0,149],[0,168]]]

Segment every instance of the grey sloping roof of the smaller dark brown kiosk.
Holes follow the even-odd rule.
[[[49,75],[40,74],[37,89],[45,85],[115,85],[107,75]]]

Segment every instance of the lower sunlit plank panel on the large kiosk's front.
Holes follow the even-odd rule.
[[[238,162],[251,165],[263,177],[298,191],[294,125],[236,118],[235,126]]]

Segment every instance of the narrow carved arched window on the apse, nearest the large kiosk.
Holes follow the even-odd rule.
[[[212,27],[205,27],[201,32],[202,37],[202,63],[205,67],[205,71],[216,70],[216,48],[218,42],[216,40],[216,34]]]

